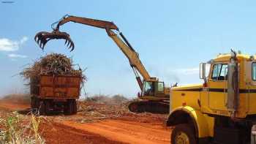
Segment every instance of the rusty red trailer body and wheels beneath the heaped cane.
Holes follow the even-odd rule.
[[[73,75],[39,75],[31,79],[31,108],[40,115],[63,111],[77,113],[76,99],[80,96],[82,77]]]

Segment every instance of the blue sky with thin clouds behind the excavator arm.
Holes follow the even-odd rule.
[[[34,34],[50,31],[50,24],[66,14],[116,23],[151,76],[169,86],[200,83],[199,63],[230,48],[256,51],[256,1],[13,1],[0,3],[0,95],[28,91],[26,82],[13,75],[51,52],[87,67],[89,94],[137,94],[127,58],[103,29],[67,23],[61,31],[75,42],[72,53],[63,41],[39,49]]]

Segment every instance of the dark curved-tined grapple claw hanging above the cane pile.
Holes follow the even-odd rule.
[[[51,39],[65,39],[65,45],[67,44],[67,48],[72,48],[72,50],[75,48],[74,42],[72,42],[72,39],[70,39],[69,34],[66,32],[58,30],[53,30],[52,32],[41,31],[34,37],[34,41],[37,42],[42,50],[45,48],[46,43]]]

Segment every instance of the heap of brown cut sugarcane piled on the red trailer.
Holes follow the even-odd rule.
[[[72,75],[82,77],[82,84],[86,82],[86,75],[83,75],[82,69],[75,69],[72,58],[68,58],[63,54],[50,53],[42,56],[34,64],[23,69],[20,75],[26,80],[30,80],[29,86],[31,93],[35,94],[37,91],[37,84],[39,83],[39,75]],[[34,92],[33,92],[34,91]]]

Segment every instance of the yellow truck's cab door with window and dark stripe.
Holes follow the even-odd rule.
[[[226,110],[227,64],[213,64],[208,88],[209,107],[214,110]]]

